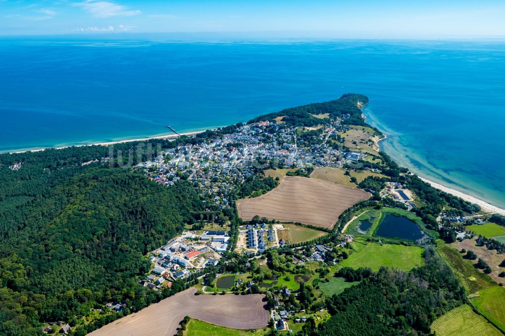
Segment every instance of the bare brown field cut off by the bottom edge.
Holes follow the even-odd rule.
[[[184,316],[235,329],[257,329],[268,324],[264,295],[194,295],[190,288],[90,333],[92,336],[160,335],[177,333]]]

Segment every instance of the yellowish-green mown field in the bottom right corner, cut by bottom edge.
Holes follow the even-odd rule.
[[[452,309],[431,324],[437,336],[500,336],[501,332],[469,305]]]

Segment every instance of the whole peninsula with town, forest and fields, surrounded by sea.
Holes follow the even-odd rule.
[[[501,209],[381,152],[367,103],[0,154],[0,333],[500,334]]]

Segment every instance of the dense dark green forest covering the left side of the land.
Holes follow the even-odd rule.
[[[109,301],[138,309],[156,301],[135,280],[150,266],[143,255],[181,232],[203,203],[185,181],[167,188],[79,164],[106,151],[0,155],[0,334],[37,334],[41,321],[69,321]]]

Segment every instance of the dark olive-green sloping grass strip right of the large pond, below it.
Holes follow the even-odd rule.
[[[437,252],[458,277],[468,293],[476,293],[495,285],[495,282],[474,267],[470,260],[463,259],[463,255],[457,249],[443,241],[437,241]]]

